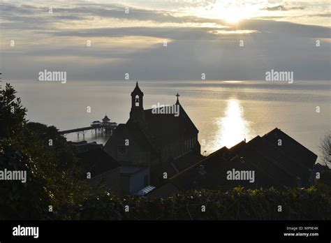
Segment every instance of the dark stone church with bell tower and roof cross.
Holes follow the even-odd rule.
[[[122,166],[150,168],[149,182],[157,185],[202,159],[199,131],[179,103],[179,94],[178,117],[144,110],[143,97],[136,82],[130,118],[117,126],[104,150]]]

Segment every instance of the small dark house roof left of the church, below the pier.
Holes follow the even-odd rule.
[[[101,148],[92,149],[79,154],[78,157],[84,168],[91,172],[91,177],[101,175],[115,168],[119,168],[119,163]]]

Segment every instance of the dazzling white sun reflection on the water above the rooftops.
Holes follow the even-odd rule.
[[[223,146],[230,148],[245,138],[247,140],[251,138],[249,121],[244,119],[244,110],[240,101],[231,98],[226,103],[224,116],[216,120],[219,129],[214,149],[220,149]]]

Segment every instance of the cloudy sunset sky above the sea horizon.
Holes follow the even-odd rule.
[[[265,80],[274,70],[330,80],[330,10],[330,0],[1,1],[1,73]]]

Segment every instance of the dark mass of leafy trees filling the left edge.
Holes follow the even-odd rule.
[[[25,171],[27,182],[0,180],[0,220],[75,219],[91,191],[71,146],[54,126],[27,123],[15,93],[1,91],[0,170]]]

